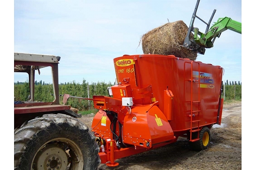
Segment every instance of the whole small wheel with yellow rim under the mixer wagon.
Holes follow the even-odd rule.
[[[192,139],[196,139],[198,137],[198,133],[192,133]],[[190,148],[192,150],[205,150],[209,147],[211,141],[211,132],[208,127],[203,127],[199,131],[199,140],[196,142],[189,142]]]

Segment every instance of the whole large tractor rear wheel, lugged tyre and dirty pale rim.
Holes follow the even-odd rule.
[[[65,114],[45,114],[14,132],[15,170],[96,170],[99,146],[87,125]]]

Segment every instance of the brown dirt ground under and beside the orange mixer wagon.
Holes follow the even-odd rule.
[[[93,114],[82,116],[91,127]],[[117,167],[99,166],[99,170],[241,170],[241,102],[224,105],[221,126],[211,129],[207,150],[190,150],[188,141],[177,142],[155,150],[116,160]]]

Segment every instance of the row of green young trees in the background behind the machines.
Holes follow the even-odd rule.
[[[60,103],[62,104],[62,96],[64,94],[70,94],[70,96],[78,96],[82,98],[93,98],[93,95],[109,96],[107,89],[111,86],[113,86],[111,82],[93,82],[89,85],[86,80],[83,80],[82,84],[76,83],[75,81],[65,84],[62,83],[59,85]],[[14,94],[15,101],[28,101],[29,83],[15,83]],[[224,97],[225,101],[241,101],[241,94],[242,93],[240,82],[238,84],[234,83],[233,85],[226,84],[226,82],[224,83],[222,98]],[[37,85],[35,85],[35,101],[52,102],[53,100],[54,96],[52,85],[42,83],[38,83]],[[73,108],[78,108],[79,111],[84,111],[93,108],[93,101],[70,98],[68,99],[67,105],[71,105]]]

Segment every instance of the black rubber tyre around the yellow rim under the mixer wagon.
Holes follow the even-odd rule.
[[[207,146],[204,146],[203,136],[204,136],[204,133],[206,133],[206,132],[209,134],[209,142],[208,142]],[[197,137],[198,137],[197,132],[192,133],[192,139],[196,139]],[[199,131],[199,140],[196,142],[189,142],[189,146],[192,150],[201,151],[201,150],[205,150],[209,147],[210,141],[211,141],[211,132],[210,132],[209,128],[205,126]]]

